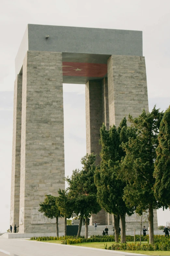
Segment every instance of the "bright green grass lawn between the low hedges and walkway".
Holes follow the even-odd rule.
[[[51,240],[51,241],[39,241],[39,242],[61,244],[62,241],[61,240]],[[106,243],[107,243],[107,247],[109,247],[114,242],[80,243],[80,244],[74,244],[72,246],[84,246],[84,247],[104,249]],[[129,243],[133,243],[133,242],[129,242]],[[147,243],[147,242],[143,242],[142,241],[142,244],[143,243]],[[164,256],[170,256],[170,251],[124,251],[124,252],[130,252],[130,253],[135,253],[135,254],[145,254],[145,255],[164,255]]]

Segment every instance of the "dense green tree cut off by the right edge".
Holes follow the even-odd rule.
[[[156,149],[154,195],[170,209],[170,106],[165,111],[158,135]]]

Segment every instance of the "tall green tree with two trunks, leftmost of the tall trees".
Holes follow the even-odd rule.
[[[119,242],[119,220],[121,220],[121,242],[126,242],[125,215],[131,215],[133,209],[126,206],[123,201],[123,189],[126,182],[119,178],[119,163],[125,153],[120,147],[121,142],[126,142],[132,129],[127,128],[126,118],[123,118],[119,128],[110,127],[109,131],[103,124],[100,129],[101,164],[96,168],[94,181],[97,186],[97,201],[108,213],[114,215],[115,241]],[[133,135],[135,133],[132,133]]]

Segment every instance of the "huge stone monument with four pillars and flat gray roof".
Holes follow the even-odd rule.
[[[87,153],[99,163],[102,123],[109,129],[148,111],[142,31],[29,24],[15,70],[10,224],[20,233],[54,232],[38,209],[65,188],[63,83],[86,84]],[[102,210],[91,221],[108,225],[112,216]]]

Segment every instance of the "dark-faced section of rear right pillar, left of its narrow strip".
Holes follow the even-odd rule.
[[[101,81],[88,81],[86,94],[86,149],[87,153],[97,154],[96,164],[100,163],[100,128],[102,126],[102,87]]]

